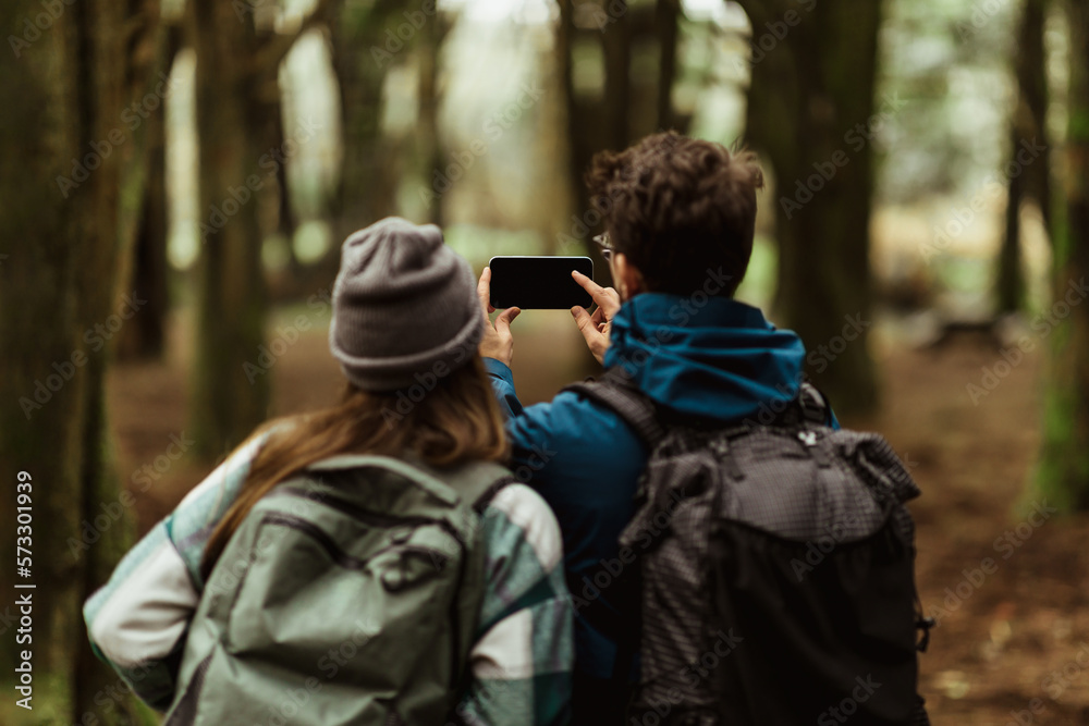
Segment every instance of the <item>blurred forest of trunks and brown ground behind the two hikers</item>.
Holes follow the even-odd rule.
[[[5,685],[0,722],[156,722],[81,604],[257,423],[331,401],[350,232],[604,284],[582,174],[676,128],[761,155],[738,296],[922,488],[935,723],[1089,723],[1085,0],[5,0],[0,28],[0,590],[21,470],[37,585],[35,709]],[[594,372],[566,312],[514,329],[524,402]]]

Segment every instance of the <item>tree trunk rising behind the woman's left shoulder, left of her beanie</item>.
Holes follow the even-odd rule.
[[[281,61],[328,5],[319,0],[295,33],[280,35],[258,26],[247,3],[188,2],[203,217],[191,418],[194,454],[201,458],[222,456],[268,415],[276,361],[260,349],[267,291],[258,199],[277,188],[297,145],[327,126],[304,120],[298,134],[280,139],[270,133],[281,126],[269,114],[280,111]]]

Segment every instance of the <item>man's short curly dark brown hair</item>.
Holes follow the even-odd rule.
[[[586,185],[612,246],[648,291],[692,295],[709,269],[722,268],[731,282],[719,294],[733,296],[752,254],[763,187],[755,153],[664,132],[597,153]]]

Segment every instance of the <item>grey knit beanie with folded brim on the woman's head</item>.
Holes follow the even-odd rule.
[[[329,347],[355,385],[442,378],[473,359],[484,324],[473,269],[439,227],[389,217],[344,241]]]

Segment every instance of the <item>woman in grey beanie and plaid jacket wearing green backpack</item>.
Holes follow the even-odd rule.
[[[509,472],[501,476],[495,464],[505,462],[509,447],[477,353],[486,325],[473,271],[443,244],[438,227],[391,218],[345,241],[329,331],[330,347],[347,379],[341,401],[258,429],[133,547],[84,608],[96,652],[142,699],[159,710],[169,707],[168,723],[215,722],[217,717],[208,716],[200,703],[187,703],[188,694],[201,689],[223,691],[217,697],[218,718],[230,713],[236,722],[234,714],[244,713],[245,723],[250,723],[249,712],[232,701],[258,699],[268,706],[260,723],[273,726],[430,726],[444,723],[441,714],[467,724],[566,722],[572,607],[561,566],[560,531],[543,500]],[[380,478],[369,470],[360,473],[364,463],[379,467],[376,462],[386,468]],[[493,481],[481,487],[480,472]],[[474,477],[476,489],[466,488],[465,481]],[[375,482],[372,491],[369,481]],[[325,489],[311,496],[317,489],[308,493],[298,482]],[[487,491],[481,493],[481,489]],[[383,546],[366,557],[356,550],[345,552],[343,541],[342,546],[330,542],[350,527],[345,519],[335,520],[341,522],[340,530],[333,528],[332,536],[310,531],[314,525],[303,521],[295,529],[308,532],[310,540],[303,536],[298,540],[285,536],[271,543],[261,540],[265,549],[255,550],[257,554],[238,554],[246,551],[247,538],[256,537],[253,532],[265,531],[258,525],[290,525],[298,519],[270,514],[284,506],[279,503],[290,499],[285,493],[298,494],[292,506],[309,506],[322,516],[360,514],[365,524],[359,525],[357,539],[366,542],[377,537],[376,531],[387,537],[387,530],[379,527],[392,519],[387,500],[403,493],[408,497],[405,492],[409,490],[416,497],[413,502],[427,500],[418,506],[432,510],[463,507],[457,510],[469,513],[472,521],[428,520],[457,530],[455,538],[446,537],[444,545],[450,553],[463,552],[460,559],[450,559],[458,562],[456,573],[444,567],[446,556],[436,557],[433,547],[431,562],[405,564],[407,555],[426,551],[408,546],[413,538],[423,537],[418,533],[423,530],[407,526],[390,529],[389,542],[382,540]],[[475,501],[466,499],[467,491],[473,491]],[[475,505],[473,509],[467,508],[469,504]],[[405,515],[399,521],[417,527],[424,519]],[[463,524],[466,527],[458,529]],[[278,552],[287,541],[309,544],[294,545],[295,552],[286,554]],[[476,551],[481,554],[473,555]],[[403,570],[387,569],[378,578],[380,585],[366,586],[370,590],[358,585],[362,579],[353,586],[360,593],[377,591],[378,598],[364,595],[358,602],[337,598],[339,602],[333,603],[317,594],[327,591],[322,588],[329,586],[329,578],[375,575],[380,564],[388,564],[391,552],[400,553]],[[266,571],[269,562],[299,562],[291,559],[296,555],[318,557],[317,564],[281,570],[328,566],[328,578],[308,571]],[[427,595],[413,604],[417,610],[391,611],[403,605],[404,591],[412,591],[405,581],[426,583],[455,575],[451,581],[456,582],[456,592],[420,590]],[[250,587],[259,576],[313,577],[297,592],[284,592],[281,587],[276,596],[266,594],[256,610],[246,610],[247,595],[237,594],[244,593],[240,581]],[[473,585],[480,591],[476,600],[468,592]],[[442,608],[435,605],[440,598],[449,601]],[[297,618],[289,627],[285,614],[297,613],[299,607],[308,618],[301,628]],[[461,619],[472,623],[461,623],[461,613],[468,616]],[[238,636],[212,643],[220,661],[209,662],[209,655],[195,663],[203,647],[197,643],[207,644],[208,633],[221,624],[217,617],[230,623],[232,633],[261,630],[272,643],[266,643],[265,650],[278,663],[255,665],[253,652],[240,644]],[[306,642],[308,638],[321,641],[330,628],[345,626],[352,618],[360,623],[358,637],[333,642],[317,661],[301,655],[313,644]],[[380,624],[377,629],[364,627],[376,623]],[[389,632],[384,644],[379,644],[383,629],[399,633],[392,647]],[[468,638],[458,649],[456,633],[462,630]],[[222,665],[223,659],[228,666]],[[285,675],[285,670],[291,673]],[[252,680],[234,684],[232,679],[241,679],[243,673],[250,674]],[[256,696],[266,692],[261,690],[266,685],[253,681],[255,673],[279,684],[279,690]],[[378,675],[372,679],[376,682],[353,682],[346,677],[350,673]],[[391,686],[404,682],[397,680],[402,676],[421,681],[421,673],[442,674],[444,685],[431,684],[412,693]]]

